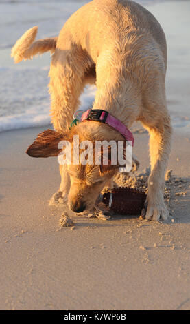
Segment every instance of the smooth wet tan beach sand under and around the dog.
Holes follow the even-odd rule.
[[[49,206],[60,184],[56,158],[32,159],[25,154],[41,130],[1,133],[0,309],[189,309],[187,136],[174,134],[169,160],[173,172],[166,182],[168,223],[138,217],[104,221]],[[148,136],[134,136],[139,174],[144,174]],[[62,212],[69,214],[74,227],[60,230]]]

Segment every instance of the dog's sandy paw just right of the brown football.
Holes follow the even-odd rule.
[[[154,221],[167,221],[169,212],[165,207],[165,203],[161,205],[151,205],[150,203],[147,205],[147,209],[145,208],[142,211],[141,216],[145,216],[147,221],[153,219]]]

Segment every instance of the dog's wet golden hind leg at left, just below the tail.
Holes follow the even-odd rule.
[[[51,60],[49,72],[51,116],[56,130],[65,130],[73,119],[73,112],[80,104],[79,97],[85,86],[86,72],[93,65],[87,52],[79,45],[60,49],[59,41]],[[86,108],[87,109],[87,108]]]

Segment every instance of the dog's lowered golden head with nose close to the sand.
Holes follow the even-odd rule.
[[[77,127],[75,127],[77,129]],[[73,131],[68,132],[56,132],[54,130],[46,130],[38,134],[36,140],[27,149],[27,154],[33,157],[49,157],[59,156],[62,158],[62,153],[65,150],[65,141],[71,144],[71,150],[73,153],[74,142],[73,135],[79,134]],[[100,154],[100,164],[95,161],[95,141],[91,141],[91,152],[88,150],[88,154],[92,155],[92,163],[85,163],[86,155],[85,147],[81,148],[81,143],[86,140],[85,134],[80,132],[80,139],[78,142],[80,159],[73,161],[73,157],[70,163],[67,163],[67,172],[71,179],[71,188],[69,192],[69,207],[74,212],[83,212],[95,205],[99,193],[102,191],[109,179],[114,176],[119,166],[112,165],[110,161],[110,151],[108,152],[108,162],[105,164],[102,161],[102,152]],[[61,145],[62,144],[62,145]],[[72,155],[73,156],[73,155]],[[89,156],[88,156],[89,157]],[[91,160],[92,161],[92,160]]]

